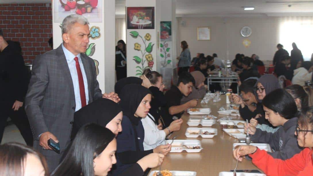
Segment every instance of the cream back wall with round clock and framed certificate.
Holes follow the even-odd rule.
[[[182,26],[181,21],[186,25]],[[178,18],[178,38],[185,40],[190,48],[191,56],[204,53],[217,53],[219,58],[233,60],[237,53],[247,56],[256,54],[260,60],[272,60],[279,40],[279,18],[209,18],[209,17],[182,17]],[[244,26],[252,29],[250,37],[242,37],[240,30]],[[197,27],[211,27],[211,41],[197,41]],[[242,44],[249,39],[251,45],[246,48]],[[284,45],[284,44],[283,44]],[[181,48],[177,46],[177,52]]]

